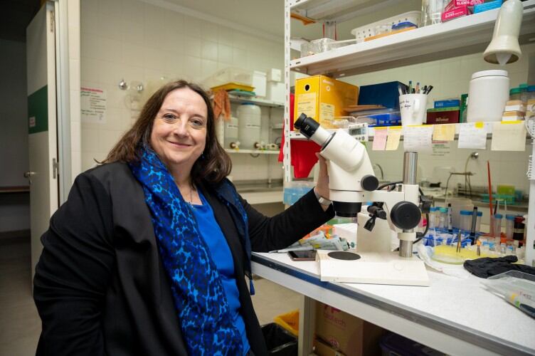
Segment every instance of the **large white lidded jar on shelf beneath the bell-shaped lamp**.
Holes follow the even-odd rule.
[[[467,122],[502,121],[507,100],[507,70],[482,70],[472,74],[468,90]]]

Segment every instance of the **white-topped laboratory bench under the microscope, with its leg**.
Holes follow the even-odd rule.
[[[315,261],[253,253],[253,273],[304,295],[300,355],[312,352],[314,301],[448,355],[535,355],[535,320],[482,288],[481,278],[428,268],[429,287],[322,282]]]

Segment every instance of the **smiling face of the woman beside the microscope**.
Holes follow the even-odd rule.
[[[206,146],[208,109],[190,88],[171,91],[154,118],[151,146],[171,171],[189,173]]]

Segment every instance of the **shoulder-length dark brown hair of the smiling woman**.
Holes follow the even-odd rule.
[[[201,179],[204,179],[207,182],[218,183],[228,176],[232,169],[231,158],[228,157],[227,152],[223,150],[217,140],[216,117],[213,115],[210,98],[200,86],[189,83],[186,80],[175,80],[159,88],[147,100],[132,128],[121,137],[102,163],[139,162],[142,148],[151,147],[152,123],[164,103],[164,99],[171,91],[180,88],[189,88],[201,95],[208,109],[206,147],[203,155],[196,160],[194,167],[191,169],[192,182],[198,183]]]

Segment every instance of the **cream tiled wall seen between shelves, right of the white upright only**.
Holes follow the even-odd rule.
[[[529,68],[529,57],[535,56],[535,44],[522,46],[523,56],[517,63],[505,66],[503,69],[509,72],[511,87],[517,87],[520,83],[526,83]],[[399,80],[408,83],[408,80],[420,82],[423,85],[433,85],[428,98],[428,108],[433,107],[433,100],[455,98],[462,93],[468,93],[468,85],[472,73],[478,70],[500,69],[499,66],[484,62],[482,53],[457,58],[448,58],[442,61],[433,61],[415,66],[406,66],[389,70],[381,70],[375,73],[356,75],[345,80],[356,85],[368,85]],[[371,147],[371,145],[369,145]],[[420,155],[418,165],[422,178],[433,180],[436,167],[454,167],[455,172],[464,172],[465,162],[470,152],[480,152],[477,160],[471,160],[467,170],[474,172],[472,185],[487,184],[487,159],[490,162],[493,185],[514,184],[519,189],[529,190],[529,181],[526,178],[526,170],[531,145],[526,145],[525,152],[493,152],[490,151],[490,141],[487,140],[488,150],[457,149],[457,141],[451,142],[450,154],[444,157],[432,155]],[[372,151],[369,149],[371,161],[381,164],[386,179],[400,180],[403,174],[403,142],[397,151]],[[446,177],[447,178],[447,177]],[[457,182],[464,183],[464,177],[453,177],[450,185]]]

